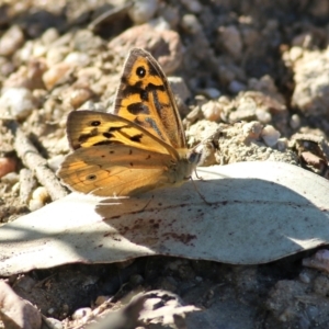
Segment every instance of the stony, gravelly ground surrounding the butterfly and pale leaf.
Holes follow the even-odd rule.
[[[328,44],[327,0],[0,1],[1,222],[67,193],[52,189],[69,151],[67,114],[111,107],[132,47],[173,76],[190,146],[222,127],[204,164],[276,160],[328,179]],[[26,160],[26,144],[49,175]],[[253,266],[150,257],[5,282],[41,310],[44,328],[83,328],[95,309],[134,320],[143,306],[123,309],[125,298],[155,290],[149,300],[191,308],[171,311],[168,322],[115,327],[112,318],[104,328],[329,328],[329,276],[303,268],[304,257]]]

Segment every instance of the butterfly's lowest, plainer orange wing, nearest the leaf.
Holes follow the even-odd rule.
[[[59,169],[63,182],[73,191],[99,196],[122,196],[182,183],[190,163],[170,155],[126,145],[79,148]]]

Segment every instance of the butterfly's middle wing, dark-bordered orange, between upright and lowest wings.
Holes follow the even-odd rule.
[[[67,121],[67,136],[71,148],[75,150],[116,144],[159,154],[170,154],[173,158],[178,158],[177,151],[163,140],[133,122],[110,113],[71,112]]]

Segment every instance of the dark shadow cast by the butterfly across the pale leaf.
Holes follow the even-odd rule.
[[[293,189],[212,169],[198,174],[204,178],[179,189],[115,206],[113,198],[100,202],[95,211],[111,232],[102,243],[115,236],[123,249],[136,247],[146,254],[252,264],[329,242],[328,208],[324,212]]]

